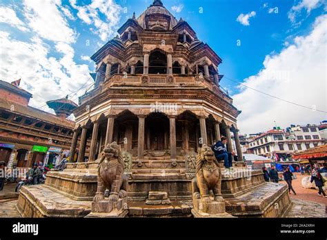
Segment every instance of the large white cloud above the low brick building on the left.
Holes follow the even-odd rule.
[[[57,99],[92,83],[87,65],[77,65],[73,60],[74,50],[67,43],[57,43],[63,57],[48,57],[50,46],[39,37],[30,42],[18,41],[8,32],[0,32],[3,43],[0,54],[0,79],[13,81],[21,78],[21,87],[33,94],[31,105],[43,106],[50,99]],[[72,100],[77,100],[85,88]],[[72,97],[72,96],[70,96]],[[46,110],[43,108],[43,110]]]

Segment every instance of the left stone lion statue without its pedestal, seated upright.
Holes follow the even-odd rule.
[[[123,174],[124,161],[116,142],[108,144],[102,152],[98,169],[97,193],[94,202],[104,200],[104,192],[109,190],[108,201],[117,203],[127,197],[127,177]]]

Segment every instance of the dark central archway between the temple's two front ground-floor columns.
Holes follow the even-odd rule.
[[[168,150],[169,120],[159,112],[146,118],[146,147],[150,151]]]

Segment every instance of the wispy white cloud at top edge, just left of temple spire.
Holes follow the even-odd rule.
[[[108,41],[114,36],[119,27],[121,12],[126,12],[126,8],[121,8],[113,0],[92,0],[89,5],[77,6],[76,0],[70,0],[72,8],[78,10],[77,17],[84,23],[94,26],[90,28],[95,34],[99,34],[102,41]],[[102,21],[100,14],[106,17]]]

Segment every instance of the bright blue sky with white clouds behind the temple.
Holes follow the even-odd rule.
[[[239,83],[228,80],[234,79],[252,88],[257,87],[258,90],[277,94],[288,101],[309,107],[316,106],[315,108],[326,111],[326,103],[324,103],[324,100],[327,101],[326,91],[325,94],[321,92],[319,98],[316,99],[308,96],[303,88],[295,92],[281,92],[280,89],[284,86],[278,86],[275,82],[270,84],[271,77],[269,81],[264,79],[265,85],[264,80],[260,79],[260,72],[268,70],[265,66],[265,63],[268,65],[268,61],[265,59],[275,59],[274,61],[279,62],[284,56],[283,53],[291,52],[293,46],[299,50],[297,52],[299,57],[304,57],[301,49],[305,49],[306,41],[304,39],[303,42],[297,43],[295,39],[302,37],[308,40],[310,34],[314,35],[313,31],[321,21],[326,19],[325,1],[162,1],[177,19],[182,17],[188,21],[197,32],[199,39],[208,43],[223,59],[219,72],[226,78],[221,82],[221,86],[228,89],[228,92],[235,97],[235,106],[243,112],[246,111],[241,114],[239,120],[246,132],[268,130],[275,120],[277,123],[280,122],[282,127],[286,127],[295,121],[296,123],[302,123],[302,121],[303,123],[308,121],[319,123],[326,118],[324,112],[313,114],[313,111],[309,112],[311,117],[300,118],[303,109],[283,102],[297,110],[295,115],[298,120],[291,116],[280,121],[278,117],[277,119],[264,117],[262,121],[268,121],[266,125],[250,128],[248,125],[252,121],[252,116],[261,112],[263,108],[262,104],[259,104],[260,98],[256,100],[259,103],[250,102],[248,98],[260,94],[241,88]],[[70,94],[70,98],[76,101],[77,97],[92,84],[87,72],[95,70],[95,65],[88,57],[99,50],[106,41],[115,37],[116,30],[132,17],[132,12],[135,12],[138,17],[151,3],[152,0],[2,0],[0,3],[0,31],[2,33],[0,61],[3,63],[1,64],[3,69],[0,70],[0,79],[14,81],[14,79],[21,78],[22,87],[28,88],[34,94],[31,104],[36,107],[41,106],[43,110],[48,110],[43,106],[45,101],[63,97],[66,94]],[[321,41],[324,44],[320,46],[322,48],[320,50],[326,52],[326,41]],[[326,66],[326,57],[322,57],[322,60]],[[26,69],[13,69],[12,66],[17,64],[17,61],[19,61],[19,66],[23,65]],[[288,63],[282,66],[285,64]],[[300,63],[290,66],[286,70],[281,70],[279,67],[277,70],[288,73],[297,72],[299,65]],[[319,72],[319,78],[316,78],[317,86],[323,84],[326,89],[326,71],[321,68],[319,70],[321,72]],[[309,73],[304,72],[301,75],[306,74]],[[288,84],[294,86],[299,82],[291,75],[290,83],[285,83],[285,88]],[[79,88],[81,90],[75,92]],[[303,94],[306,98],[313,99],[313,102],[306,101],[304,97],[299,98],[299,91],[302,91],[300,95]],[[244,105],[244,97],[247,98],[247,106]],[[265,96],[265,101],[266,98]],[[266,104],[275,106],[279,103],[272,99]],[[261,106],[261,108],[255,108],[255,106]],[[266,112],[266,114],[278,116],[280,113],[275,111]],[[281,114],[285,115],[283,112]]]

